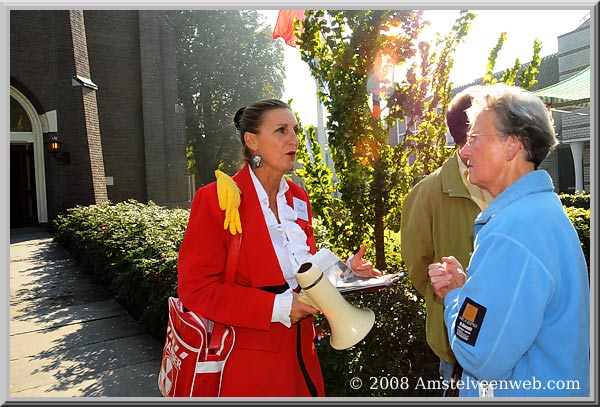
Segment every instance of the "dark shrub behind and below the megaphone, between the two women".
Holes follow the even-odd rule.
[[[419,386],[437,380],[439,359],[425,339],[425,304],[405,279],[391,288],[346,295],[351,304],[375,312],[375,325],[364,340],[347,350],[335,350],[328,335],[317,343],[325,390],[333,397],[441,396]],[[329,325],[317,316],[317,332]],[[356,386],[356,379],[362,385]]]

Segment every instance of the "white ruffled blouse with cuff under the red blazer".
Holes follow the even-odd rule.
[[[283,277],[290,286],[290,289],[285,293],[276,294],[271,322],[281,322],[289,328],[292,326],[290,321],[292,289],[298,286],[296,272],[312,255],[310,254],[309,246],[306,244],[306,233],[304,233],[300,225],[296,223],[298,214],[294,208],[288,205],[287,200],[285,199],[285,193],[289,189],[285,179],[281,178],[279,190],[277,191],[277,212],[281,221],[281,223],[278,223],[275,214],[271,208],[269,208],[269,197],[254,174],[254,171],[250,171],[250,176],[254,183],[254,189],[258,195],[265,222],[269,229],[271,243],[277,254],[277,260],[279,260],[281,270],[283,271]]]

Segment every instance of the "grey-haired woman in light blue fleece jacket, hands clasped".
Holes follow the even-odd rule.
[[[475,220],[465,270],[429,266],[461,396],[589,396],[590,302],[577,233],[540,163],[557,144],[533,93],[495,84],[467,110],[469,181],[494,200]]]

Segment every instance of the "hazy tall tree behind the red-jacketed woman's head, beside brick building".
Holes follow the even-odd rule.
[[[241,144],[233,115],[255,100],[281,96],[283,49],[256,10],[168,15],[176,28],[188,167],[201,186],[214,180],[216,168],[228,173],[238,169]]]

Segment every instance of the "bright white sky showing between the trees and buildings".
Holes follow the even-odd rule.
[[[557,37],[573,31],[589,14],[582,9],[554,10],[473,10],[477,17],[471,29],[455,53],[454,67],[450,79],[455,86],[464,85],[485,74],[490,51],[496,45],[498,37],[506,32],[507,38],[498,54],[494,71],[512,66],[516,58],[522,63],[531,60],[533,42],[542,41],[540,56],[557,52]],[[278,10],[263,10],[268,24],[273,27],[277,21]],[[431,21],[428,33],[431,38],[435,32],[447,33],[459,15],[459,10],[426,10],[424,18]],[[284,44],[286,81],[282,99],[293,99],[292,108],[298,112],[303,125],[317,125],[318,103],[316,84],[310,76],[308,65],[300,59],[300,53]]]

